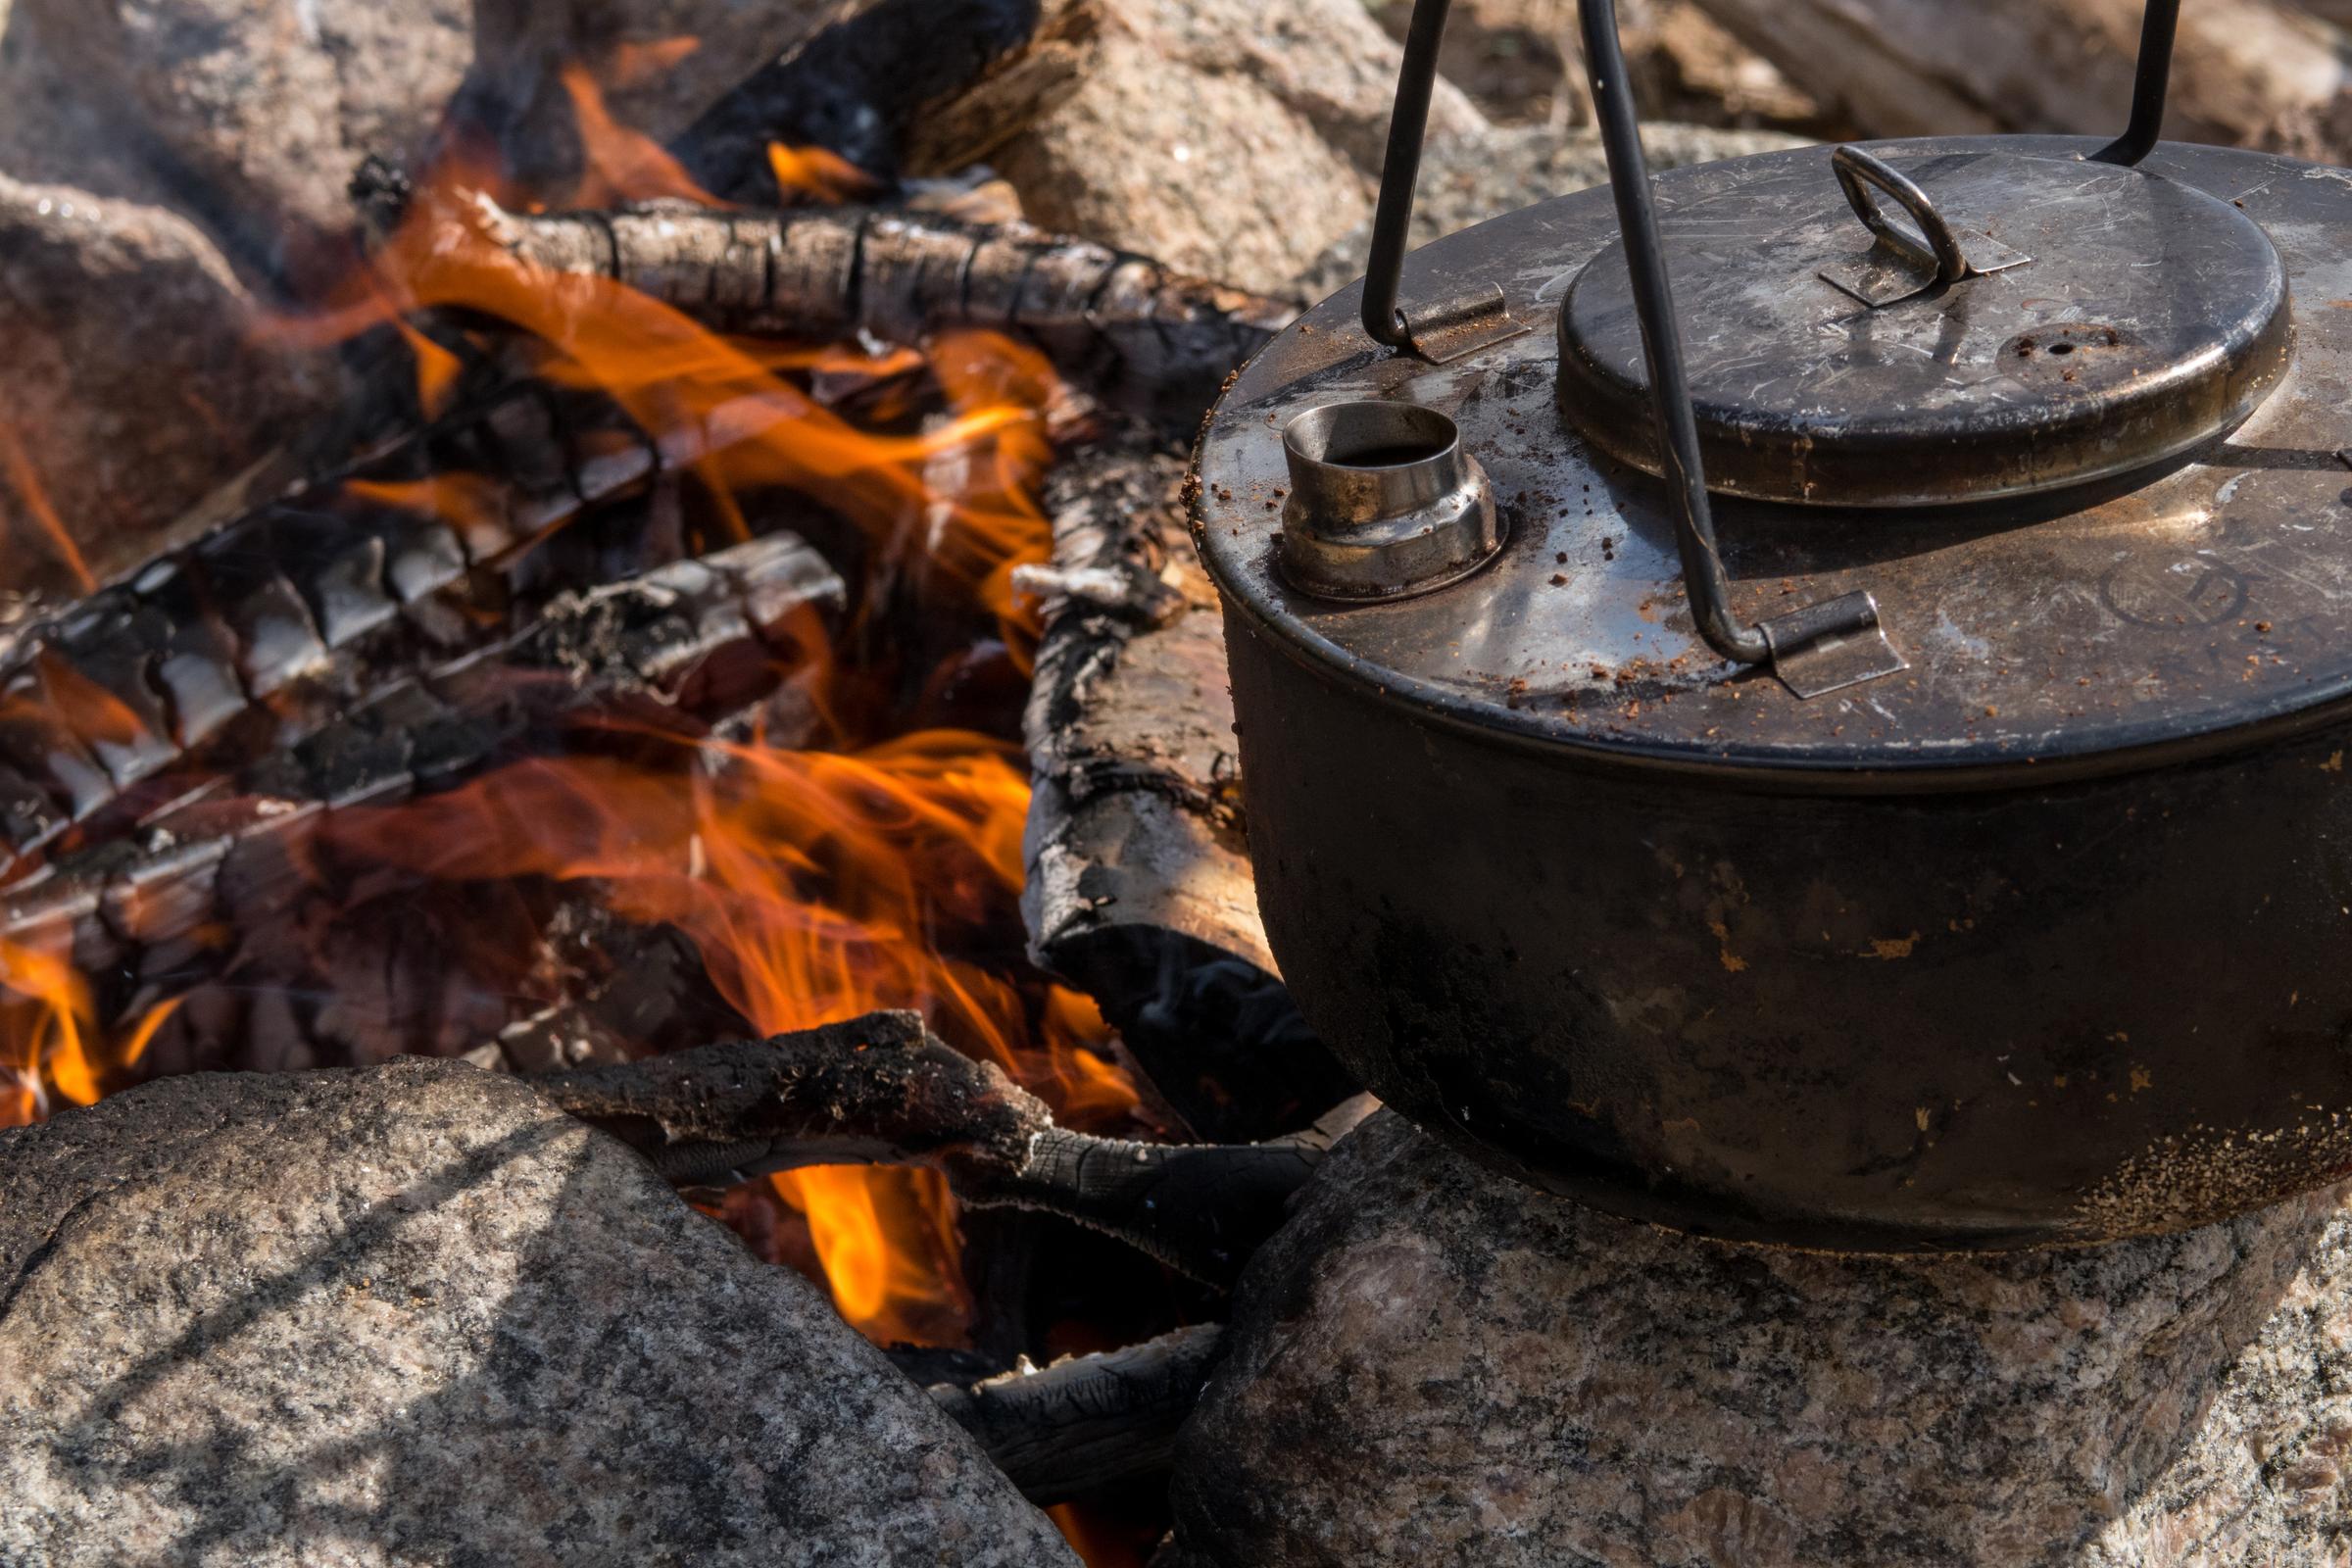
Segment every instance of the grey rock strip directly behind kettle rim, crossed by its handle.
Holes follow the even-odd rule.
[[[1642,127],[1642,148],[1649,153],[1651,174],[1797,146],[1806,146],[1804,139],[1783,132],[1670,122]],[[1432,139],[1421,162],[1421,186],[1414,193],[1414,244],[1428,244],[1505,212],[1606,181],[1609,158],[1602,153],[1597,129],[1555,132],[1543,125],[1515,125],[1472,136]],[[1367,207],[1364,221],[1338,235],[1298,275],[1291,292],[1301,299],[1327,299],[1364,275],[1369,254],[1371,209]]]

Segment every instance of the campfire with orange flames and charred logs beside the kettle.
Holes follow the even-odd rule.
[[[254,324],[393,376],[390,437],[103,590],[7,449],[89,597],[16,632],[0,710],[0,1117],[906,1009],[1070,1138],[1171,1138],[1096,1001],[1023,952],[1021,715],[1063,597],[1023,574],[1054,557],[1054,463],[1176,451],[1150,400],[1204,397],[1282,308],[974,228],[974,193],[842,207],[880,181],[826,148],[771,143],[764,200],[720,200],[595,73],[560,80],[574,181],[466,139],[372,162],[348,270]],[[858,1140],[779,1164],[694,1194],[910,1366],[1145,1340],[1207,1312],[1181,1267],[1225,1284],[1242,1255],[974,1234],[946,1173]]]

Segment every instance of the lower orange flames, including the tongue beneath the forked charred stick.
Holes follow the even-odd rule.
[[[449,795],[346,811],[325,835],[433,877],[597,879],[604,903],[687,931],[764,1032],[913,1006],[1077,1119],[1124,1112],[1091,1006],[948,957],[1004,922],[1021,886],[1028,778],[1011,748],[927,731],[854,755],[706,743],[722,766],[520,762]],[[927,1171],[774,1178],[809,1218],[842,1316],[877,1340],[953,1340],[967,1314],[953,1208]]]

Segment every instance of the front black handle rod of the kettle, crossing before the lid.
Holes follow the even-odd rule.
[[[1421,24],[1418,12],[1414,24]],[[1708,473],[1698,456],[1698,416],[1691,414],[1691,383],[1682,367],[1675,289],[1665,273],[1665,247],[1658,240],[1658,202],[1649,188],[1649,160],[1642,155],[1642,122],[1635,115],[1632,82],[1625,75],[1616,0],[1581,0],[1578,24],[1585,35],[1585,66],[1592,73],[1592,106],[1602,122],[1602,148],[1609,153],[1609,188],[1616,195],[1625,266],[1632,270],[1642,357],[1649,362],[1649,386],[1658,409],[1663,475],[1679,508],[1675,541],[1682,548],[1682,581],[1691,595],[1691,618],[1708,646],[1724,658],[1750,665],[1769,663],[1771,646],[1764,642],[1764,632],[1740,625],[1731,614],[1731,581],[1715,548]],[[1369,287],[1364,299],[1369,306]]]

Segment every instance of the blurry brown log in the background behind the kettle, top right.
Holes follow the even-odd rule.
[[[2131,115],[2138,5],[2105,0],[1698,0],[1872,136],[2074,132]],[[2166,134],[2340,162],[2352,40],[2274,0],[2180,7]]]

